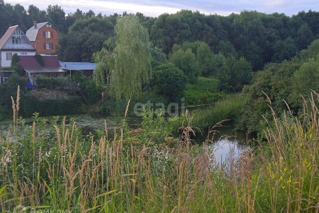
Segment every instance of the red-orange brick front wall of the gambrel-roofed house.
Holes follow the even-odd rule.
[[[51,38],[45,38],[46,31],[51,32]],[[36,52],[38,54],[55,53],[59,38],[60,34],[57,29],[44,25],[39,28],[35,38],[35,42],[32,42],[32,44],[36,48]],[[45,49],[45,43],[51,43],[51,49]]]

